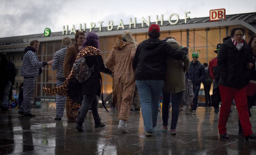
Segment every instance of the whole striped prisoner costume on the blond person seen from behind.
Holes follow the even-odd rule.
[[[64,84],[64,74],[63,74],[63,62],[65,59],[67,47],[62,47],[59,51],[55,52],[53,57],[52,69],[55,71],[57,69],[57,84],[60,86]],[[56,95],[56,117],[62,118],[64,108],[65,108],[66,96]]]

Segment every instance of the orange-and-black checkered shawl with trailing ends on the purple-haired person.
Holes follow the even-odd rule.
[[[92,46],[85,46],[85,47],[83,47],[82,51],[80,51],[78,53],[75,60],[78,60],[79,58],[87,56],[87,55],[101,55],[101,51]],[[58,94],[58,95],[66,96],[66,100],[68,101],[69,106],[72,109],[72,111],[78,111],[79,108],[81,107],[81,103],[75,103],[73,100],[70,99],[70,97],[67,94],[67,91],[69,89],[69,83],[71,81],[74,81],[74,78],[75,78],[75,74],[74,74],[74,70],[72,68],[72,70],[70,71],[70,75],[66,78],[64,84],[62,84],[61,86],[58,86],[58,87],[51,88],[51,89],[43,88],[43,90],[48,95],[57,95]]]

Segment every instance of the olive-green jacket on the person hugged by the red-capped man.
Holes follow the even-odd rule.
[[[166,41],[174,49],[181,49],[178,42],[174,39]],[[165,69],[165,87],[163,92],[178,93],[185,91],[185,73],[189,68],[189,58],[186,56],[183,60],[175,60],[171,57],[166,59]]]

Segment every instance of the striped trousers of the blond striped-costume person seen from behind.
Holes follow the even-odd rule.
[[[64,82],[57,80],[56,86],[60,86]],[[56,95],[56,117],[62,118],[65,108],[66,96]]]

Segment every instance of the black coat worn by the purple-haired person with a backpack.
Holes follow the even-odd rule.
[[[81,101],[84,95],[97,95],[101,94],[101,75],[100,72],[111,75],[112,72],[104,65],[101,55],[85,56],[86,64],[88,67],[92,67],[96,64],[92,70],[90,78],[80,84],[76,78],[70,82],[68,94],[75,102]]]

